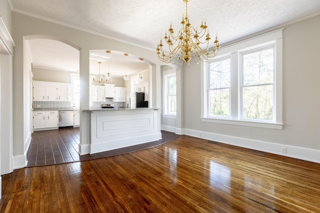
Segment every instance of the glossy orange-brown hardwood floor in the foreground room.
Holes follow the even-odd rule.
[[[320,213],[320,164],[181,136],[2,176],[0,213]]]

